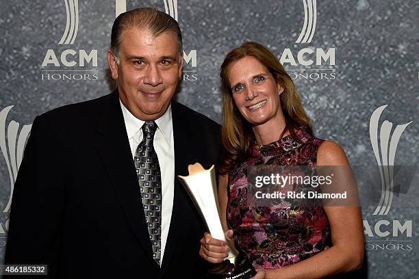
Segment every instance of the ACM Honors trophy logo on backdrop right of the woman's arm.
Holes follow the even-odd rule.
[[[374,220],[363,220],[364,233],[367,237],[366,250],[405,250],[411,251],[413,231],[412,220],[387,220],[377,218],[388,215],[392,207],[395,185],[394,161],[398,142],[407,126],[411,124],[394,124],[389,120],[380,123],[381,114],[388,105],[382,105],[374,110],[370,118],[370,142],[374,152],[381,178],[381,195],[372,215]],[[403,223],[403,224],[402,224]],[[388,239],[388,237],[393,237]],[[401,240],[397,237],[403,237]],[[374,238],[374,240],[369,240]],[[377,240],[379,239],[379,240]]]

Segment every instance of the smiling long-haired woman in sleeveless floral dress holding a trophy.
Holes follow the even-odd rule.
[[[358,269],[364,257],[359,207],[318,206],[310,212],[257,207],[247,203],[245,194],[252,164],[348,166],[344,150],[313,136],[292,79],[261,44],[246,42],[233,49],[220,77],[226,149],[218,188],[222,222],[236,231],[234,237],[258,270],[255,278],[322,278]],[[206,233],[199,253],[220,263],[229,251],[225,244]]]

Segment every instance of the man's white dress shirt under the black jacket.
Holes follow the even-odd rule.
[[[120,101],[120,107],[123,111],[125,128],[129,139],[129,146],[131,146],[133,164],[134,155],[138,144],[142,141],[142,124],[145,121],[133,116],[131,112]],[[160,266],[162,265],[164,248],[166,247],[168,230],[170,227],[170,219],[172,217],[174,183],[175,183],[175,144],[173,141],[173,121],[172,110],[169,105],[166,112],[155,120],[157,130],[154,135],[154,150],[159,159],[160,172],[162,174],[162,254],[160,257]],[[139,192],[139,191],[138,191]],[[141,198],[139,196],[138,198]],[[141,220],[138,220],[141,222]]]

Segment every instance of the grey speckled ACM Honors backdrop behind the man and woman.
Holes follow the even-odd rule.
[[[357,277],[418,278],[417,0],[1,0],[0,263],[31,122],[112,92],[112,23],[140,6],[179,22],[184,68],[176,98],[217,122],[227,52],[248,40],[274,52],[316,136],[341,144],[363,176],[366,261]]]

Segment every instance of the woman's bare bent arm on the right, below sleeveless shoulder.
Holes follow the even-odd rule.
[[[318,148],[317,165],[349,165],[344,150],[334,142]],[[266,270],[265,278],[322,278],[359,269],[364,259],[364,230],[360,207],[324,207],[333,247],[281,269]]]

